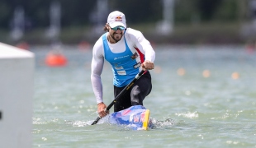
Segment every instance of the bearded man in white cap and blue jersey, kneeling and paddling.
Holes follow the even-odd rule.
[[[101,74],[104,59],[110,62],[113,72],[115,97],[132,81],[141,70],[154,69],[154,49],[138,30],[126,29],[126,16],[122,12],[111,12],[104,27],[107,31],[94,44],[92,50],[92,89],[97,100],[100,117],[107,115],[102,99]],[[114,104],[114,112],[132,105],[143,105],[143,99],[152,89],[151,76],[147,71]]]

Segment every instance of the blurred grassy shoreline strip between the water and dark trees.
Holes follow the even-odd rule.
[[[130,28],[140,30],[145,38],[152,44],[249,44],[255,43],[254,31],[243,35],[245,25],[239,23],[206,23],[200,25],[175,25],[174,30],[169,35],[161,35],[152,24],[130,25]],[[45,35],[45,29],[28,30],[21,39],[16,41],[10,38],[7,30],[0,30],[0,40],[6,44],[52,44],[53,40],[62,44],[81,44],[82,42],[94,44],[104,33],[101,28],[73,27],[61,30],[58,38],[52,39]],[[99,31],[98,31],[99,30]],[[246,33],[246,31],[245,31]]]

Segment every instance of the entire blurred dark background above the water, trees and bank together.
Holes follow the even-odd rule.
[[[53,3],[58,3],[59,12],[54,13],[50,8]],[[108,14],[118,10],[125,13],[128,27],[142,31],[154,44],[246,44],[255,39],[254,3],[254,0],[0,0],[0,41],[93,44],[104,33],[102,27]],[[23,21],[15,23],[19,14]],[[58,29],[50,35],[54,24]],[[15,30],[21,34],[12,34]]]

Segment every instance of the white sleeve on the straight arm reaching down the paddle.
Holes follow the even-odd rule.
[[[91,64],[91,81],[92,81],[92,90],[96,97],[97,104],[103,102],[102,99],[102,69],[104,65],[104,56],[103,56],[103,44],[102,37],[97,40],[92,49],[92,64]]]

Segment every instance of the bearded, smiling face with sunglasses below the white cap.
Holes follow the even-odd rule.
[[[118,27],[116,26],[115,28],[111,28],[109,26],[109,35],[111,36],[111,40],[110,42],[112,41],[113,43],[116,43],[118,42],[121,37],[124,35],[124,31],[125,31],[125,28],[124,27]]]

